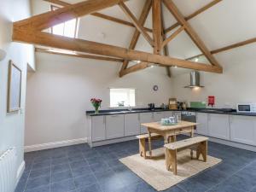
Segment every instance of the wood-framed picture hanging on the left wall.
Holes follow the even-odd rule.
[[[13,61],[9,61],[9,77],[8,77],[8,99],[7,112],[15,112],[20,110],[21,95],[21,70]]]

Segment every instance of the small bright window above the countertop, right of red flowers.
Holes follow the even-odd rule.
[[[110,88],[110,108],[135,107],[135,89]]]

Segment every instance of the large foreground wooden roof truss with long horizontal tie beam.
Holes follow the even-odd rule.
[[[161,1],[161,0],[155,0]],[[212,55],[208,55],[207,49],[203,46],[202,42],[198,40],[193,29],[189,26],[186,20],[184,20],[183,16],[180,15],[177,8],[170,1],[163,0],[166,3],[166,7],[170,9],[173,15],[177,17],[177,20],[180,24],[185,27],[186,32],[190,33],[190,36],[194,38],[195,42],[201,47],[204,54],[209,57],[209,60],[213,65],[207,65],[204,63],[197,63],[193,61],[184,61],[181,59],[172,58],[165,55],[159,54],[150,54],[143,51],[137,51],[132,49],[125,49],[109,44],[100,44],[96,42],[90,42],[82,39],[75,38],[66,38],[61,36],[56,36],[53,34],[49,34],[47,32],[42,32],[44,29],[47,29],[51,26],[55,26],[67,20],[72,20],[74,18],[78,18],[84,15],[90,15],[96,13],[101,9],[106,9],[113,5],[119,4],[122,9],[125,9],[125,13],[130,16],[132,23],[137,27],[137,31],[141,32],[144,37],[148,34],[145,32],[143,26],[140,24],[139,20],[132,15],[129,9],[125,6],[124,1],[122,0],[88,0],[82,3],[76,3],[72,5],[68,5],[67,7],[57,9],[52,12],[48,12],[42,15],[36,15],[26,20],[21,20],[14,23],[13,27],[13,40],[25,42],[28,44],[39,44],[43,46],[53,47],[57,49],[67,49],[74,50],[94,55],[105,55],[111,57],[121,58],[122,60],[127,61],[142,61],[134,67],[126,68],[123,71],[123,74],[128,73],[129,71],[135,71],[137,69],[141,69],[144,67],[148,67],[148,63],[158,63],[160,66],[166,67],[184,67],[195,70],[207,71],[212,73],[222,73],[222,67],[218,66],[218,62],[214,61]],[[157,3],[156,3],[157,5]],[[157,13],[158,11],[158,13]],[[160,15],[159,9],[155,9],[154,15]],[[154,18],[154,20],[159,20]],[[156,25],[154,29],[157,28],[157,33],[159,30],[161,31],[160,25]],[[192,33],[192,35],[191,35]],[[161,37],[161,33],[160,33]],[[159,39],[159,42],[162,42],[162,38],[155,37]],[[150,38],[150,36],[149,36]],[[149,39],[148,38],[148,39]],[[154,38],[154,39],[155,39]],[[153,45],[155,42],[153,41]],[[159,46],[159,43],[158,43]],[[161,46],[161,44],[160,44]],[[215,66],[214,66],[215,65]]]

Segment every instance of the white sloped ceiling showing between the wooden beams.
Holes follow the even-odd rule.
[[[66,0],[68,3],[82,2],[83,0]],[[177,8],[180,9],[184,16],[188,16],[200,9],[212,0],[173,0]],[[134,15],[139,17],[145,0],[130,0],[125,4],[131,9]],[[43,0],[32,0],[32,8],[34,15],[38,15],[49,11],[49,3]],[[207,9],[201,15],[197,15],[189,23],[201,39],[207,45],[207,48],[218,49],[223,46],[234,44],[240,41],[247,40],[248,38],[256,38],[256,1],[255,0],[223,0],[222,2],[214,5],[212,8]],[[100,11],[102,14],[111,15],[122,20],[130,21],[125,14],[119,9],[119,6],[104,9]],[[176,22],[169,11],[164,7],[164,20],[165,26],[171,26]],[[151,12],[148,15],[145,26],[152,28]],[[95,16],[84,16],[80,20],[79,38],[101,42],[103,44],[113,44],[121,47],[128,48],[134,28],[124,26],[112,21],[102,20]],[[170,32],[168,35],[172,34]],[[177,58],[188,58],[190,56],[198,55],[201,53],[195,44],[190,40],[186,32],[180,33],[177,38],[168,44],[170,56]],[[255,53],[256,46],[244,46],[237,48],[236,51],[229,50],[224,53],[215,55],[221,65],[226,65],[227,62],[232,62],[236,55],[244,55],[244,59],[249,55],[256,60]],[[152,52],[148,42],[141,36],[136,49],[147,52]],[[245,51],[246,50],[246,51]],[[252,54],[245,54],[247,51]],[[229,52],[229,53],[227,53]],[[230,56],[236,54],[234,56]],[[226,56],[224,56],[226,55]],[[225,63],[224,63],[225,62]],[[174,72],[182,70],[174,69]]]

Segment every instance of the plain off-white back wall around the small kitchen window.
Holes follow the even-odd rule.
[[[109,107],[109,87],[137,89],[138,107],[161,104],[172,96],[164,67],[118,77],[120,63],[38,53],[37,72],[27,79],[26,146],[87,137],[86,110],[91,97]],[[157,92],[154,84],[159,85]]]

